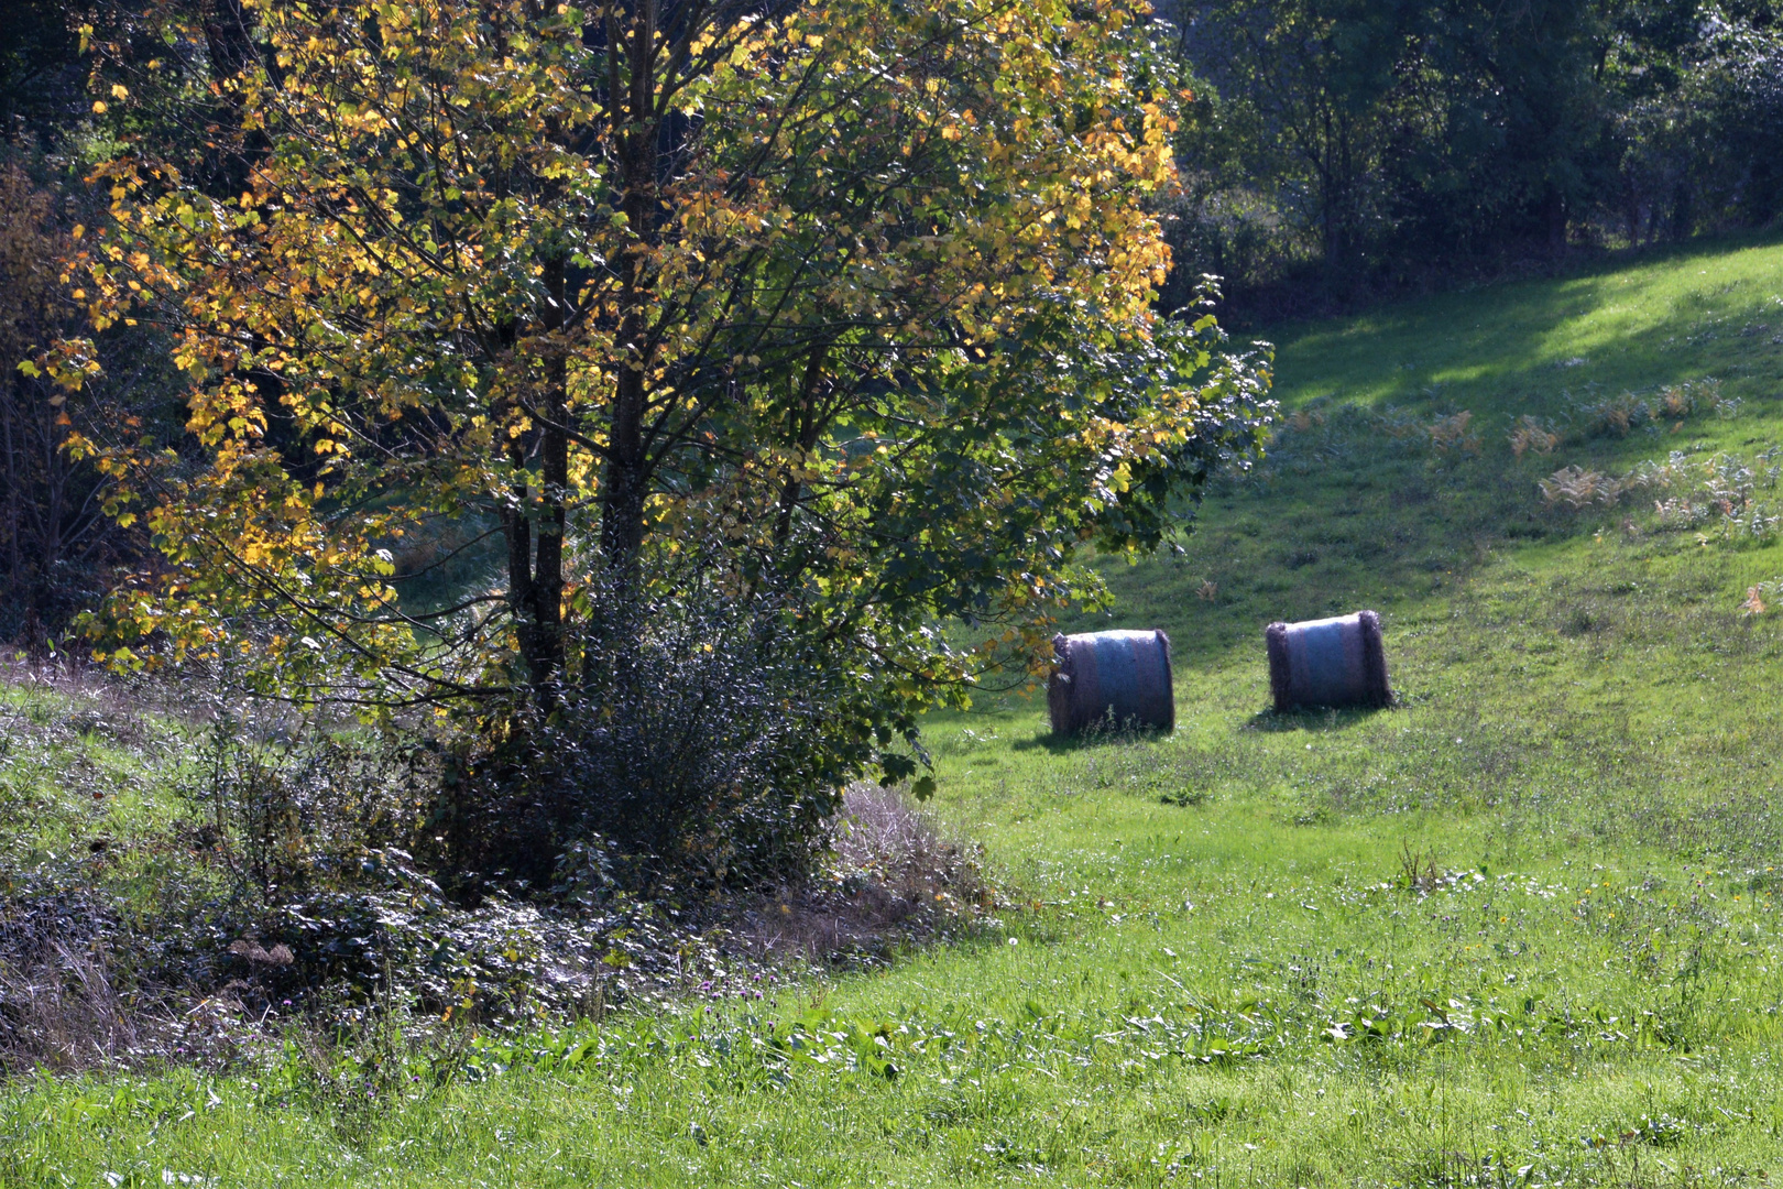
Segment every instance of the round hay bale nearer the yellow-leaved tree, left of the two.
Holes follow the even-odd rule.
[[[1113,718],[1116,727],[1173,731],[1170,636],[1163,631],[1091,631],[1054,636],[1057,667],[1047,683],[1054,734],[1077,734]]]

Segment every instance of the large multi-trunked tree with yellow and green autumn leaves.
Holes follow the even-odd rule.
[[[940,622],[1036,642],[1084,544],[1155,547],[1259,440],[1266,365],[1150,308],[1179,93],[1129,0],[250,11],[241,194],[136,144],[77,258],[96,326],[177,337],[205,451],[78,442],[171,563],[114,661],[549,718],[697,544],[858,660],[884,745],[966,688]],[[499,576],[421,610],[394,551],[440,521]]]

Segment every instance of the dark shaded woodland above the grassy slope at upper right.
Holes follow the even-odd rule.
[[[1763,226],[1769,0],[1177,0],[1196,100],[1171,242],[1245,314]]]

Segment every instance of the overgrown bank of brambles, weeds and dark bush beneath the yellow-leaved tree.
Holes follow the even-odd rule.
[[[868,752],[845,672],[811,660],[838,652],[790,608],[701,583],[649,601],[672,631],[581,640],[560,713],[505,749],[474,736],[471,772],[472,736],[367,731],[196,665],[36,681],[0,704],[0,1073],[225,1066],[390,1014],[508,1029],[747,996],[765,963],[972,927],[990,893],[970,847],[883,786],[834,811],[833,774]],[[444,758],[480,849],[440,841]],[[683,875],[758,895],[686,897]]]

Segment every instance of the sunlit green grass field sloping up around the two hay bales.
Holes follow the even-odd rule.
[[[1277,342],[1271,458],[1109,572],[1179,731],[931,724],[936,811],[1013,890],[977,939],[451,1078],[399,1037],[21,1078],[0,1184],[1783,1177],[1783,244]],[[1262,626],[1357,606],[1401,708],[1266,713]]]

